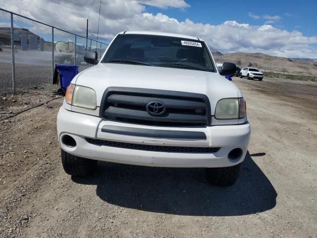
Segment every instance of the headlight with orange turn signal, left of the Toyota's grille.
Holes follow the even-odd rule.
[[[96,92],[92,88],[70,84],[67,87],[65,101],[72,106],[96,109]]]

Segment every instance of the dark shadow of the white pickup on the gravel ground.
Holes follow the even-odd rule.
[[[261,153],[259,153],[261,154]],[[277,193],[249,152],[231,187],[206,183],[204,169],[99,163],[97,174],[72,180],[97,185],[107,203],[143,211],[190,216],[237,216],[272,209]]]

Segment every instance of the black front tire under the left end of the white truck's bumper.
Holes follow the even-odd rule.
[[[88,176],[94,172],[97,161],[77,157],[61,150],[61,163],[68,175]]]

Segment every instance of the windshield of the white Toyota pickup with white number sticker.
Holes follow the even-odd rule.
[[[142,34],[120,34],[102,63],[140,64],[215,72],[203,41]]]

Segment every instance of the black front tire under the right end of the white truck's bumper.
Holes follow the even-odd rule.
[[[231,186],[238,179],[240,164],[222,168],[206,168],[206,179],[215,186]]]

